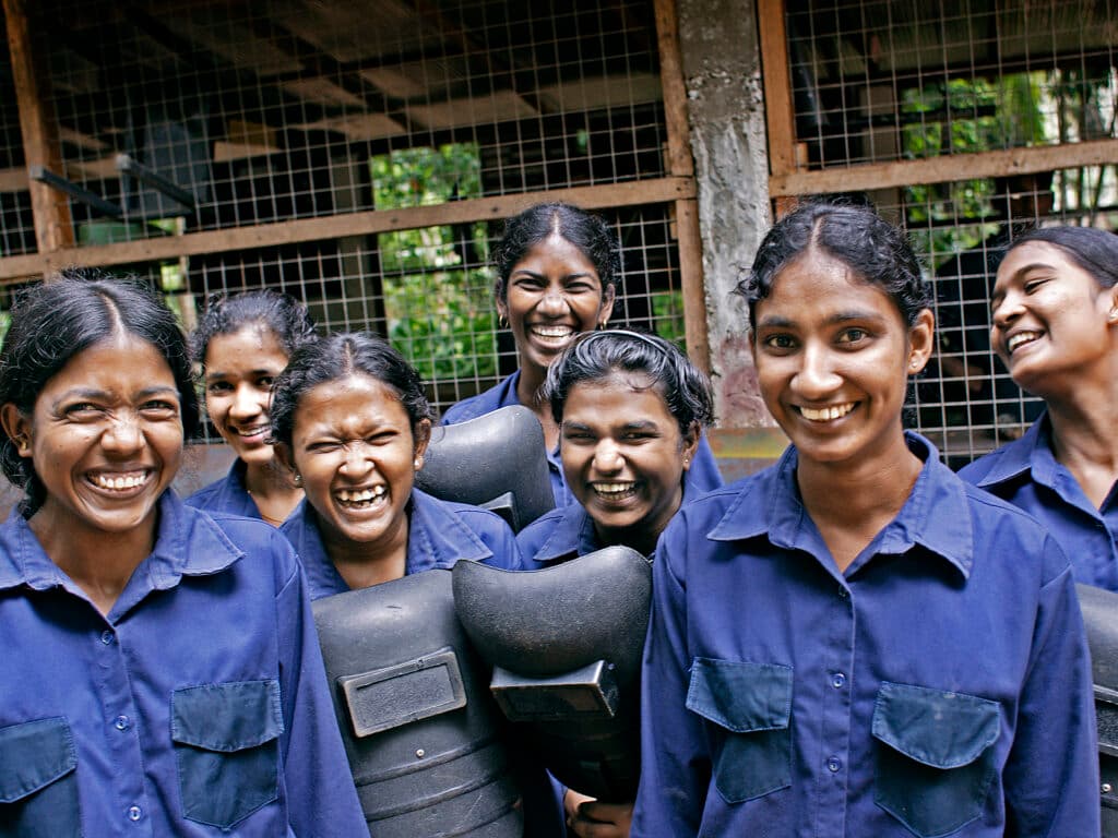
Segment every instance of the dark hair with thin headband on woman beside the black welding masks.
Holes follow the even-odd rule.
[[[707,426],[714,420],[710,380],[673,343],[653,334],[612,328],[578,335],[548,368],[543,398],[551,402],[556,421],[562,421],[563,406],[575,384],[600,381],[615,372],[637,372],[652,379],[683,435],[693,422]]]

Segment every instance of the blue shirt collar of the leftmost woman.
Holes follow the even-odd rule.
[[[114,612],[131,608],[152,590],[173,588],[182,577],[218,573],[244,555],[209,515],[186,506],[171,489],[159,499],[158,514],[155,546],[133,571]],[[78,592],[16,508],[0,526],[0,590],[20,584]]]

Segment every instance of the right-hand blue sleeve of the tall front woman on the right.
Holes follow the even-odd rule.
[[[1060,554],[1049,536],[1045,554]],[[1070,568],[1041,589],[1032,658],[1005,768],[1008,837],[1098,836],[1090,656]]]

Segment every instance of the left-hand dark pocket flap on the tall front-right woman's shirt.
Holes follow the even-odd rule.
[[[735,733],[775,731],[792,716],[792,667],[695,658],[688,710]]]

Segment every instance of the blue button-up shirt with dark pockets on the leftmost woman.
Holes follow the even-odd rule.
[[[306,588],[272,527],[165,493],[105,617],[15,511],[0,627],[0,834],[368,835]]]

